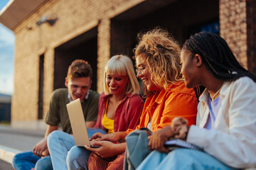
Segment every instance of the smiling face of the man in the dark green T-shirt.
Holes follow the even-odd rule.
[[[68,87],[68,92],[73,101],[80,98],[80,101],[85,99],[87,92],[91,87],[92,81],[90,77],[79,77],[79,78],[66,78],[65,86]]]

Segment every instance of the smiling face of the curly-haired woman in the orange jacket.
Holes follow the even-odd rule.
[[[161,89],[154,84],[149,72],[149,65],[146,63],[146,55],[140,54],[136,57],[137,77],[142,79],[148,91],[161,91]]]

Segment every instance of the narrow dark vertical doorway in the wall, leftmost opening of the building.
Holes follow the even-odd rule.
[[[38,119],[43,119],[43,66],[44,54],[39,56]]]

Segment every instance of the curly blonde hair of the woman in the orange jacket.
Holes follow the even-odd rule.
[[[134,48],[134,60],[138,55],[145,54],[149,65],[151,79],[156,86],[168,90],[170,84],[182,81],[181,49],[172,36],[161,28],[154,28],[145,34],[139,33],[139,43]],[[151,94],[150,91],[144,92]]]

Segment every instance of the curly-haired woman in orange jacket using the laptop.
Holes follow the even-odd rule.
[[[145,142],[148,141],[147,132],[155,132],[170,125],[171,120],[176,116],[182,115],[187,118],[189,125],[196,123],[198,104],[196,94],[193,89],[187,89],[183,83],[179,65],[180,48],[171,35],[159,28],[139,35],[139,43],[134,48],[134,54],[137,77],[144,82],[146,96],[140,123],[135,131],[129,129],[125,132],[114,132],[92,142],[92,145],[104,147],[86,147],[94,152],[90,154],[89,169],[123,169],[125,148],[128,148],[127,152],[130,153],[131,145],[135,155],[140,155],[146,150],[144,154],[146,157],[150,152]],[[137,145],[128,141],[127,135],[132,131],[144,135],[142,137],[144,147],[139,145],[140,141],[137,139]],[[143,152],[137,148],[142,149]],[[137,157],[135,159],[139,160]]]

